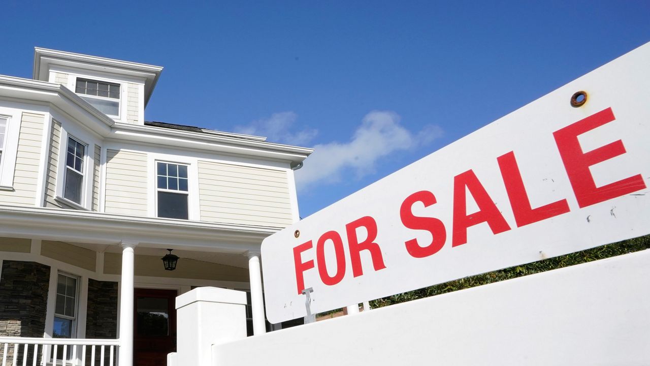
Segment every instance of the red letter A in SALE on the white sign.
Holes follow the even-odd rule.
[[[467,214],[465,188],[474,197],[478,212]],[[476,178],[474,171],[469,169],[465,173],[454,176],[454,232],[451,246],[455,247],[467,243],[467,228],[483,222],[487,222],[493,234],[510,230],[510,226],[499,212],[497,205],[494,204],[486,189]]]

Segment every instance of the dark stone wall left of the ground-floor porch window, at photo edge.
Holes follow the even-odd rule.
[[[3,260],[0,277],[0,336],[43,337],[49,266]]]

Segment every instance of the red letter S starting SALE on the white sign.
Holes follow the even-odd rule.
[[[413,215],[413,204],[416,202],[421,202],[424,204],[424,207],[431,206],[435,204],[434,193],[430,191],[419,191],[415,192],[412,195],[406,197],[402,206],[400,207],[400,218],[402,218],[402,223],[405,227],[414,230],[426,230],[431,233],[432,240],[428,246],[420,246],[417,239],[411,239],[404,242],[406,245],[406,251],[415,258],[424,258],[430,255],[434,255],[443,246],[445,246],[445,240],[447,240],[447,231],[445,231],[445,224],[443,221],[440,221],[436,218],[428,218]]]

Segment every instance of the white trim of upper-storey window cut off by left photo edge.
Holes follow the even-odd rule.
[[[22,109],[0,107],[0,117],[6,118],[5,147],[0,162],[0,190],[14,189],[14,171],[18,154],[18,137],[23,115]]]

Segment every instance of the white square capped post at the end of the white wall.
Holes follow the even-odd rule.
[[[246,292],[199,287],[176,298],[176,317],[173,361],[213,365],[212,345],[246,338]]]

